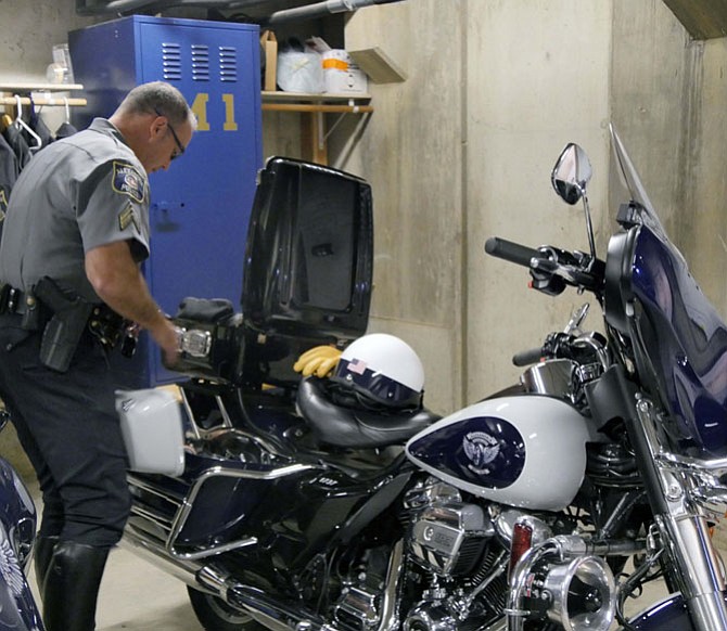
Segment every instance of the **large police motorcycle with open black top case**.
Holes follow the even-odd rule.
[[[205,629],[727,629],[710,537],[727,497],[727,329],[611,136],[630,198],[604,259],[575,144],[552,183],[583,202],[590,252],[486,244],[546,295],[588,292],[604,332],[579,309],[513,358],[518,384],[444,418],[290,374],[303,350],[366,330],[371,197],[353,176],[268,163],[242,313],[178,313],[179,401],[119,394],[125,541],[188,584]],[[171,438],[148,439],[163,417]],[[628,618],[655,579],[671,595]]]

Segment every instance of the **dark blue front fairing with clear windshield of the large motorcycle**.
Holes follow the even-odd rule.
[[[666,236],[613,126],[611,139],[616,170],[633,203],[622,222],[626,232],[614,235],[614,244],[621,245],[609,246],[613,260],[607,265],[618,283],[622,273],[629,276],[629,291],[621,300],[624,313],[630,311],[629,335],[642,384],[662,399],[677,436],[688,441],[685,447],[725,456],[727,326]]]

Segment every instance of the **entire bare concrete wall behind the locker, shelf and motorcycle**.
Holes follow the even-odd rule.
[[[52,44],[90,23],[73,0],[0,0],[0,82],[42,77]],[[334,166],[373,185],[370,330],[400,335],[421,355],[433,409],[511,383],[510,356],[561,329],[581,304],[573,292],[526,291],[527,273],[483,245],[497,234],[587,248],[581,208],[549,184],[560,150],[576,141],[594,163],[603,252],[615,201],[609,120],[727,312],[724,39],[690,41],[661,0],[408,0],[357,12],[345,37],[352,50],[380,47],[408,74],[371,86],[375,112],[345,117],[329,142]],[[299,155],[298,123],[266,113],[265,153]]]

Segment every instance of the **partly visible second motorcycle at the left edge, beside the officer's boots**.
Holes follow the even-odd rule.
[[[0,432],[9,414],[0,411]],[[33,556],[37,513],[17,472],[0,458],[0,631],[43,631],[25,571]]]

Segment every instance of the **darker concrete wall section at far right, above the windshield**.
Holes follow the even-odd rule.
[[[727,313],[727,40],[693,41],[660,0],[614,2],[612,117],[669,235]]]

